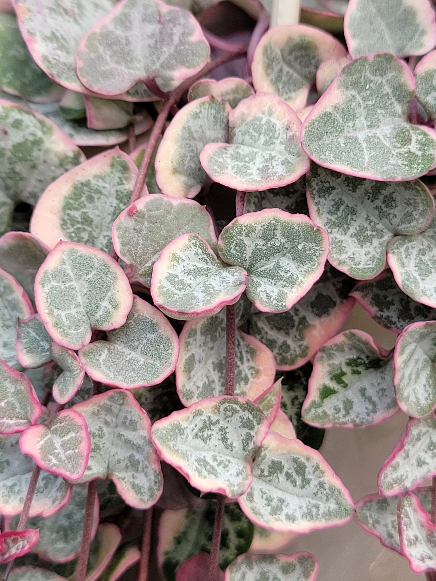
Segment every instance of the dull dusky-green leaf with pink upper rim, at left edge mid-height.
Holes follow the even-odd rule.
[[[35,276],[49,252],[44,242],[28,232],[8,232],[0,238],[0,268],[12,274],[32,303]]]

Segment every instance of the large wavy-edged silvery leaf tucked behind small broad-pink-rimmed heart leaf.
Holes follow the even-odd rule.
[[[91,436],[80,482],[111,478],[128,505],[145,509],[155,504],[162,493],[162,472],[150,438],[151,422],[133,395],[110,389],[73,410],[83,415]]]

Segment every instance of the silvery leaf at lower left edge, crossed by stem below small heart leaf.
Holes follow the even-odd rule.
[[[21,453],[20,434],[0,436],[0,512],[13,517],[23,510],[24,500],[35,462]],[[49,517],[65,505],[72,487],[60,476],[41,470],[30,516]],[[30,525],[29,525],[30,526]]]

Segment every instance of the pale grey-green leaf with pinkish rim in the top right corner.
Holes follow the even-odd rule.
[[[389,52],[425,55],[436,44],[436,23],[428,0],[350,0],[344,34],[351,56]]]

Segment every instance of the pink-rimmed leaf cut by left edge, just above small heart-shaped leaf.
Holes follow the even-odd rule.
[[[20,373],[0,360],[0,433],[23,432],[42,412],[33,385]]]

